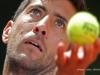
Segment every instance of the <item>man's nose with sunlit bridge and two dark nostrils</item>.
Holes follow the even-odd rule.
[[[48,30],[48,22],[49,22],[49,16],[45,16],[35,25],[33,32],[35,32],[38,35],[40,34],[46,37]]]

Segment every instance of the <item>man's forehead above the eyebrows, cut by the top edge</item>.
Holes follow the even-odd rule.
[[[70,0],[32,0],[33,4],[54,7],[74,7]],[[75,7],[74,7],[75,8]]]

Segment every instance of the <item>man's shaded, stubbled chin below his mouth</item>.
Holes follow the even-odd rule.
[[[9,56],[10,63],[19,66],[24,69],[34,70],[36,68],[43,67],[43,63],[41,58],[31,59],[25,54],[16,54]]]

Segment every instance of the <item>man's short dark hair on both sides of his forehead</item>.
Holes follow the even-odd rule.
[[[23,0],[18,7],[17,11],[15,12],[15,15],[13,17],[13,21],[16,20],[16,18],[20,15],[20,13],[31,3],[32,0]],[[74,5],[74,7],[77,9],[77,11],[86,10],[86,4],[84,0],[69,0]]]

